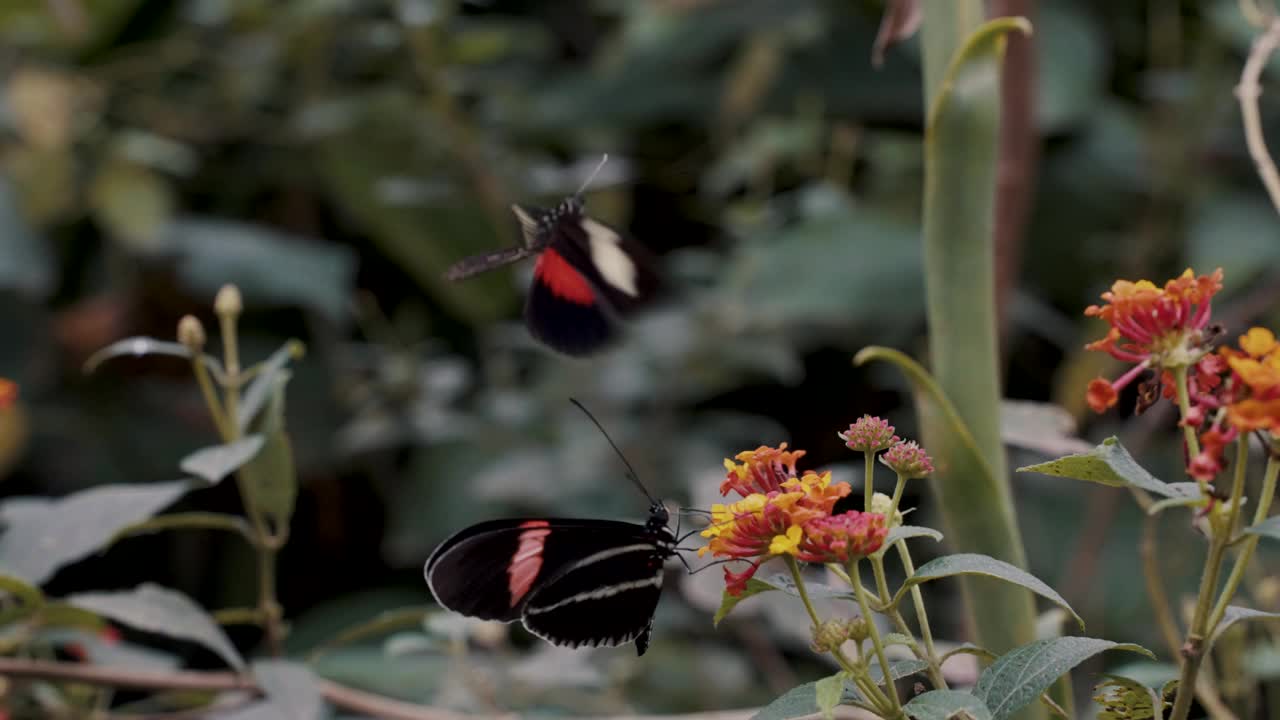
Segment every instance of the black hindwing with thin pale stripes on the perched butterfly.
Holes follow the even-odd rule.
[[[634,541],[585,556],[539,585],[525,605],[525,628],[567,647],[635,641],[644,655],[669,552],[652,536]]]

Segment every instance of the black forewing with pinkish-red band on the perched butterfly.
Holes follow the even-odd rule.
[[[440,543],[424,568],[448,610],[511,623],[550,578],[591,555],[632,544],[644,527],[617,520],[489,520]]]

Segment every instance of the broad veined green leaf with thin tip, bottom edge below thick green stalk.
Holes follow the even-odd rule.
[[[1030,705],[1060,676],[1106,650],[1128,650],[1155,657],[1142,646],[1096,638],[1047,638],[1005,653],[983,670],[973,694],[991,708],[995,720]]]

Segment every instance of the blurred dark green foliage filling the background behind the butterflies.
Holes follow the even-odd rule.
[[[1080,311],[1116,277],[1221,265],[1229,331],[1275,319],[1280,233],[1231,95],[1249,28],[1230,0],[1034,5],[1042,143],[1005,278],[1007,395],[1066,406],[1089,438],[1119,432],[1176,479],[1169,416],[1087,416],[1084,383],[1114,369],[1082,352],[1102,327]],[[291,337],[308,348],[288,407],[303,480],[280,561],[293,650],[428,602],[422,561],[471,521],[641,516],[570,396],[673,502],[707,506],[721,459],[760,443],[806,448],[809,468],[849,464],[851,479],[858,459],[838,429],[863,413],[906,434],[914,424],[899,378],[852,368],[852,352],[877,343],[927,359],[919,58],[908,41],[872,67],[882,9],[6,0],[0,375],[20,383],[23,416],[0,441],[0,492],[177,477],[178,459],[214,442],[188,366],[118,359],[86,375],[82,364],[122,337],[172,338],[187,313],[212,328],[227,282],[246,299],[248,357]],[[515,242],[507,204],[556,202],[603,152],[590,210],[653,247],[675,290],[616,351],[566,360],[518,322],[527,265],[442,275]],[[1038,457],[1014,452],[1015,466]],[[1089,634],[1160,647],[1128,498],[1014,482],[1032,570]],[[924,488],[910,500],[927,519]],[[238,500],[228,483],[183,506],[236,511]],[[1189,533],[1164,525],[1175,548],[1164,568],[1183,589],[1198,562],[1176,552],[1198,547]],[[713,574],[701,578],[714,585]],[[216,609],[250,602],[252,577],[238,542],[178,532],[120,543],[46,589],[154,580]],[[961,638],[948,611],[959,596],[936,594],[934,607],[940,634]],[[787,687],[762,682],[782,673],[769,670],[778,653],[812,674],[803,635],[771,626],[713,630],[705,606],[668,592],[643,662],[603,651],[604,676],[577,694],[498,702],[762,702]],[[369,646],[328,662],[334,676],[433,701],[448,660]],[[600,689],[617,682],[625,696]]]

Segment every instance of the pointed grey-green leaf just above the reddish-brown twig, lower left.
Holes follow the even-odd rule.
[[[202,644],[232,667],[244,669],[244,660],[218,623],[180,592],[143,583],[132,591],[78,593],[65,601],[138,630]]]

